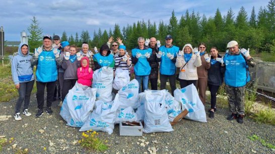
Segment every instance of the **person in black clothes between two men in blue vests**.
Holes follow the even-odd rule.
[[[151,73],[149,75],[151,89],[158,90],[159,63],[157,62],[157,54],[159,53],[161,44],[159,40],[157,41],[156,38],[152,37],[150,40],[146,39],[145,45],[152,49],[152,55],[148,59],[151,66]]]

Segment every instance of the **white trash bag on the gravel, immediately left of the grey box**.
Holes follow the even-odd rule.
[[[118,106],[118,94],[116,94],[115,99],[111,102],[97,100],[95,102],[94,111],[90,114],[89,118],[85,121],[79,131],[87,131],[92,129],[111,134],[114,129],[114,121]]]

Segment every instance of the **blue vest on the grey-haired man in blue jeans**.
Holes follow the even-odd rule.
[[[141,53],[142,56],[139,58],[136,64],[134,64],[134,74],[135,75],[149,75],[151,72],[151,67],[150,64],[145,56],[145,54],[149,52],[150,56],[152,55],[152,49],[145,49],[145,50],[140,50],[140,49],[133,49],[132,50],[132,56],[135,57],[137,53]]]

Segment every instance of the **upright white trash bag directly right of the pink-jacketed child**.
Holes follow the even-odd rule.
[[[96,88],[96,100],[112,101],[113,68],[104,66],[93,74],[93,88]]]

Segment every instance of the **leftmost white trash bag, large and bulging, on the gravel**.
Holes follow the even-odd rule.
[[[93,111],[95,100],[95,88],[76,82],[66,95],[59,114],[68,126],[81,127]]]

